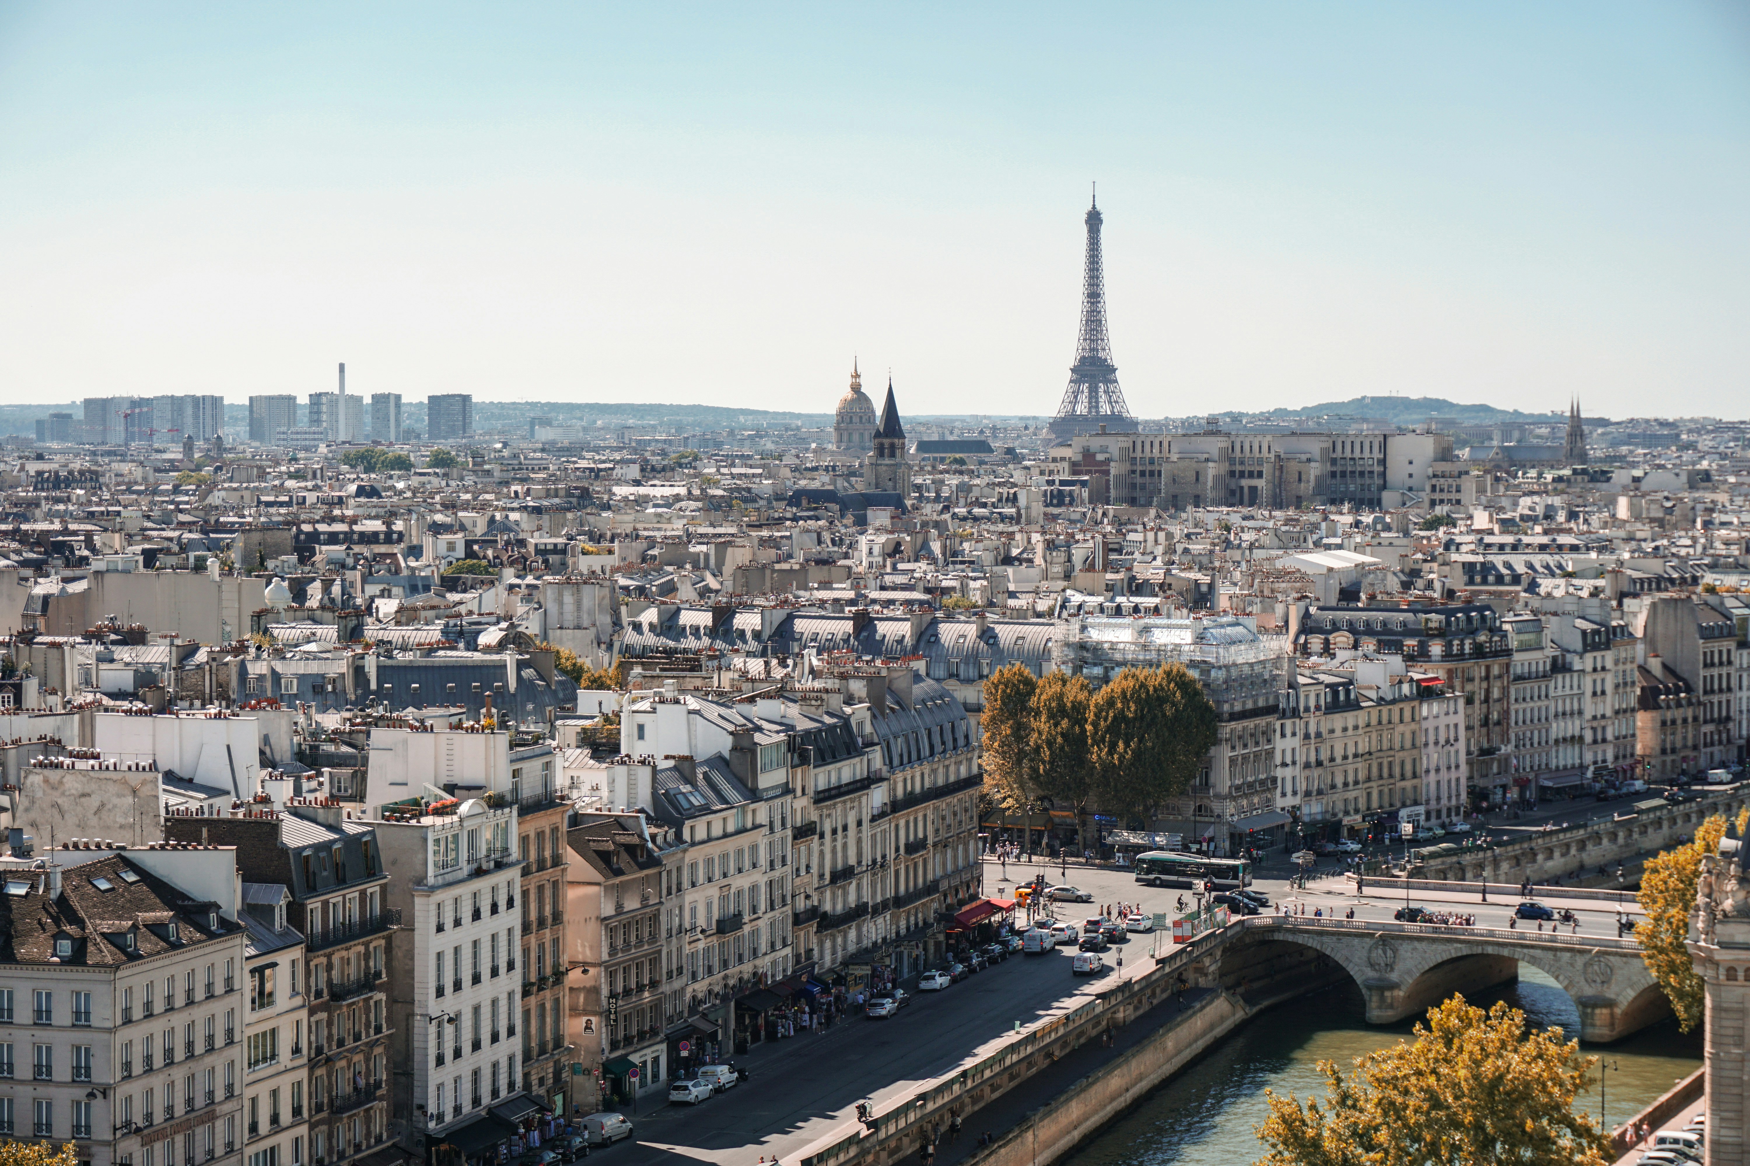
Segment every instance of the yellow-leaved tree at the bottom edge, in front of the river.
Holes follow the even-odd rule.
[[[1526,1031],[1507,1003],[1452,996],[1416,1040],[1356,1058],[1348,1077],[1320,1061],[1323,1103],[1270,1093],[1258,1166],[1603,1166],[1608,1135],[1573,1110],[1596,1058],[1561,1037]]]

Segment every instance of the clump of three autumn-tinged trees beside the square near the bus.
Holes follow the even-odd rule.
[[[1118,818],[1148,820],[1190,788],[1216,743],[1214,704],[1181,664],[1127,668],[1099,692],[1085,677],[1034,677],[1022,664],[984,685],[984,771],[1012,813],[1050,799],[1076,815],[1099,804]]]

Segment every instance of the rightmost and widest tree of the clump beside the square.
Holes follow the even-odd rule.
[[[1183,664],[1125,668],[1094,694],[1094,792],[1125,820],[1152,818],[1155,806],[1188,790],[1214,743],[1214,704]]]

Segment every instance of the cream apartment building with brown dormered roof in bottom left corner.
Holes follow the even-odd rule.
[[[94,1166],[242,1166],[247,932],[231,851],[49,864],[4,871],[0,1136],[72,1142]]]

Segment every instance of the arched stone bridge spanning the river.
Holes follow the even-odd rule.
[[[1253,916],[1223,932],[1227,942],[1209,951],[1204,970],[1225,988],[1246,981],[1248,996],[1293,991],[1335,963],[1362,989],[1374,1024],[1419,1016],[1454,991],[1510,982],[1521,961],[1568,991],[1586,1042],[1620,1040],[1670,1014],[1633,939],[1304,916]]]

